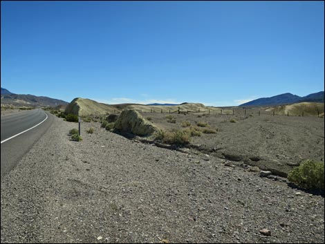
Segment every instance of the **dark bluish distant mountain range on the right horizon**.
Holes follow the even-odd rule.
[[[297,102],[323,102],[324,103],[324,91],[318,93],[312,93],[305,97],[299,97],[291,93],[284,93],[275,95],[273,97],[263,97],[250,102],[245,102],[239,106],[277,106],[284,104],[293,104]]]

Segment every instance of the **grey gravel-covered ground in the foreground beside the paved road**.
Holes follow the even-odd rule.
[[[72,128],[55,118],[1,181],[1,243],[324,243],[322,196],[99,123],[74,142]]]

